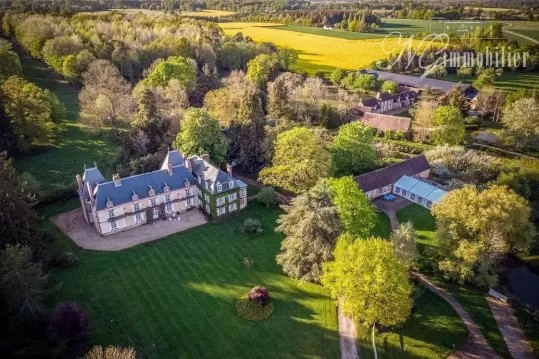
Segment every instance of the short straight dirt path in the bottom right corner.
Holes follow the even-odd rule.
[[[513,359],[535,358],[533,348],[520,328],[513,308],[511,308],[509,304],[492,297],[487,297],[487,302],[490,306],[490,310],[492,310],[492,314],[494,314],[496,324],[498,324],[498,329],[500,329],[503,340],[505,340],[505,344],[507,344],[507,347],[509,348],[511,357],[513,357]]]

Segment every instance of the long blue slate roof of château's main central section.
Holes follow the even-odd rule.
[[[155,190],[155,194],[165,193],[165,186],[168,185],[171,191],[195,184],[193,175],[183,166],[172,167],[172,174],[168,169],[160,169],[153,172],[143,173],[136,176],[122,178],[121,186],[116,187],[114,181],[100,183],[97,185],[95,206],[96,210],[107,208],[107,201],[110,199],[114,206],[133,201],[133,194],[138,195],[138,199],[148,198],[150,188]],[[151,187],[150,187],[151,186]]]

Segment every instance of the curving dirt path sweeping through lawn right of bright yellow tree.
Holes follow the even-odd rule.
[[[429,288],[432,292],[436,293],[443,299],[445,299],[446,302],[448,302],[453,309],[457,312],[457,314],[460,316],[462,321],[464,322],[464,325],[468,329],[468,332],[470,333],[470,339],[466,344],[461,347],[459,350],[454,352],[449,358],[451,359],[457,359],[457,358],[500,358],[501,357],[496,354],[496,352],[488,345],[487,340],[481,333],[481,330],[479,330],[479,327],[475,322],[473,321],[472,317],[466,310],[464,310],[464,307],[462,304],[458,302],[458,300],[453,297],[450,293],[448,293],[445,289],[438,287],[436,284],[432,283],[427,277],[425,277],[423,274],[419,272],[412,272],[412,277],[415,277],[419,280],[421,280],[423,283],[427,285],[427,288]]]

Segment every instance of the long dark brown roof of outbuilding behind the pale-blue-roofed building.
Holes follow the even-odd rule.
[[[391,166],[380,168],[376,171],[356,176],[354,180],[358,183],[361,190],[368,192],[393,184],[402,176],[414,176],[428,169],[430,169],[430,165],[427,158],[425,155],[420,155]]]

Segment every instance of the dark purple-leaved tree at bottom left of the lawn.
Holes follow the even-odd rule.
[[[60,304],[49,321],[48,337],[54,358],[74,358],[88,338],[88,317],[72,303]]]

